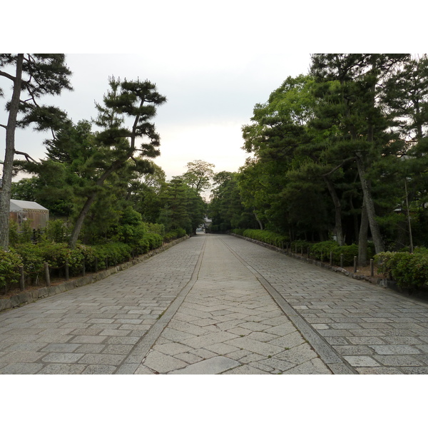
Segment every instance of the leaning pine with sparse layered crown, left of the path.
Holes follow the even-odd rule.
[[[160,153],[160,137],[150,121],[156,116],[157,106],[165,103],[166,98],[156,91],[156,85],[150,81],[120,81],[112,77],[109,86],[110,91],[103,98],[103,106],[96,104],[98,118],[95,123],[103,131],[96,133],[95,139],[101,149],[97,156],[93,156],[93,165],[96,166],[92,171],[93,188],[76,219],[69,242],[71,248],[75,247],[83,220],[106,180],[124,168],[130,160],[139,173],[151,171],[152,165],[146,158],[155,158]],[[131,126],[126,126],[126,118],[131,118]],[[147,141],[137,146],[137,138],[143,137]]]

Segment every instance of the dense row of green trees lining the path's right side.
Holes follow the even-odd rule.
[[[243,126],[248,158],[215,176],[214,228],[375,252],[428,242],[428,58],[315,54]]]

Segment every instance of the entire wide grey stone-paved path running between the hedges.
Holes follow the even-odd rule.
[[[428,372],[428,305],[228,235],[0,313],[0,374]]]

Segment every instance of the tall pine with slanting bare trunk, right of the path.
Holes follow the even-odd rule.
[[[376,220],[370,170],[381,156],[393,154],[389,142],[394,140],[391,123],[383,114],[383,83],[394,67],[408,58],[405,54],[312,56],[311,71],[318,83],[316,113],[319,123],[323,122],[320,128],[335,126],[338,132],[332,141],[344,159],[351,156],[355,161],[364,196],[363,209],[377,253],[384,250],[384,242]]]

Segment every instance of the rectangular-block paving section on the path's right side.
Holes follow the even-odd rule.
[[[428,373],[427,303],[252,243],[225,242],[357,373]]]

